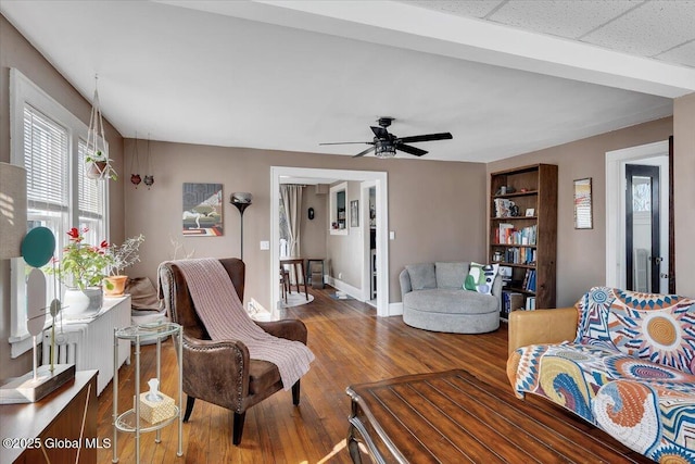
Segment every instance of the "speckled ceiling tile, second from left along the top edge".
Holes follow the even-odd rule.
[[[576,39],[642,3],[632,1],[522,0],[505,3],[489,20]]]

